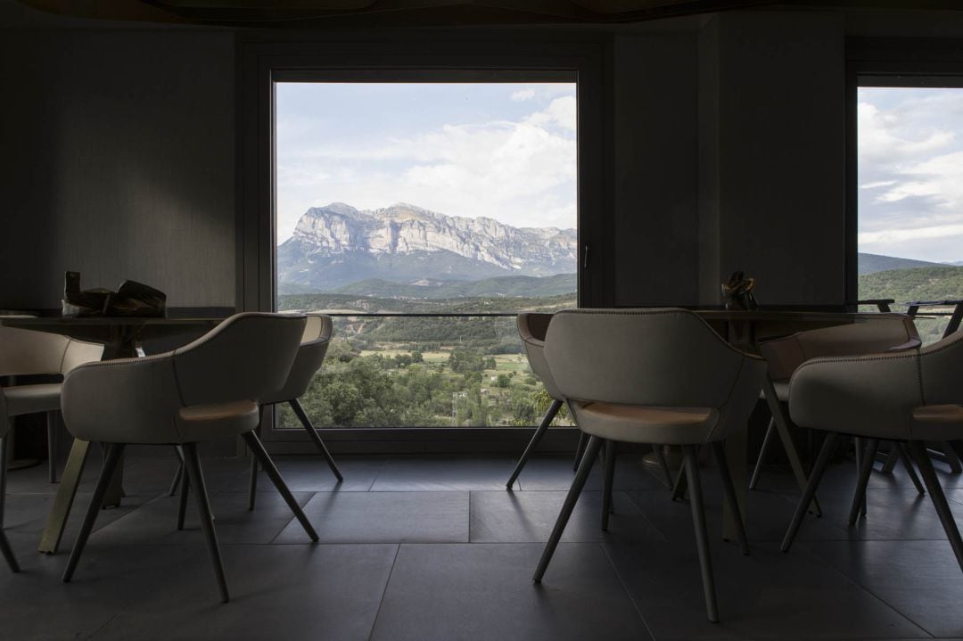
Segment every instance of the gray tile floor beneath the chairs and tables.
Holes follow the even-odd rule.
[[[620,457],[615,514],[599,529],[593,471],[541,585],[534,572],[571,482],[568,456],[535,458],[515,491],[507,456],[276,457],[317,527],[310,544],[262,478],[247,511],[247,462],[205,459],[231,603],[221,604],[197,525],[174,527],[174,461],[133,449],[127,497],[100,513],[74,581],[66,552],[91,497],[89,466],[63,551],[36,551],[54,486],[10,474],[6,531],[23,572],[0,566],[0,638],[18,639],[920,639],[963,638],[963,573],[929,500],[901,471],[874,474],[869,515],[846,526],[852,465],[827,473],[825,516],[778,545],[794,484],[772,468],[750,493],[752,553],[721,540],[704,475],[722,618],[705,619],[687,502],[637,455]],[[963,477],[941,472],[963,516]],[[959,489],[956,489],[959,488]]]

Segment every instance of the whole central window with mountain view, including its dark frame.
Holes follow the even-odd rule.
[[[604,43],[242,46],[238,307],[334,318],[311,420],[342,450],[517,450],[549,404],[517,313],[611,303]],[[272,417],[269,449],[313,451]]]

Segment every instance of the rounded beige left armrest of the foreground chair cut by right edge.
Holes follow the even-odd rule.
[[[790,381],[794,423],[882,439],[911,438],[913,409],[924,404],[919,350],[817,358]]]

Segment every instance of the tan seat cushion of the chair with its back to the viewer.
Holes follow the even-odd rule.
[[[685,445],[705,443],[719,413],[706,407],[655,407],[615,403],[573,403],[586,434],[613,441]]]

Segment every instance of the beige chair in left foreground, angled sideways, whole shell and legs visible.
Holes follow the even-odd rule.
[[[128,443],[180,445],[195,488],[200,522],[221,590],[228,600],[221,551],[211,518],[197,443],[241,436],[274,485],[317,541],[271,457],[254,434],[261,398],[280,389],[304,333],[304,317],[245,313],[222,321],[190,345],[166,354],[82,365],[64,380],[67,429],[77,438],[110,444],[91,505],[64,572],[69,581],[91,534],[117,461]]]

